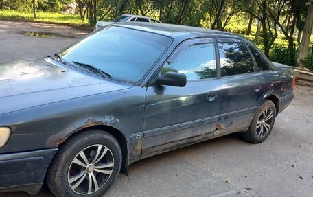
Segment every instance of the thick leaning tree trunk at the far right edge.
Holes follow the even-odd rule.
[[[304,59],[308,54],[308,47],[310,44],[310,37],[312,33],[312,23],[313,23],[313,5],[309,6],[307,18],[304,25],[304,30],[302,33],[302,40],[299,48],[299,56],[297,59],[297,67],[304,67]]]

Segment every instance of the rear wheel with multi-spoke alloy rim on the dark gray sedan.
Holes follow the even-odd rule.
[[[265,100],[257,108],[248,130],[242,135],[244,140],[250,143],[263,142],[270,135],[270,131],[275,123],[275,117],[275,104],[270,100]]]

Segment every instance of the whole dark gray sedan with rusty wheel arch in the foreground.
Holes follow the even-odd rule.
[[[0,73],[0,190],[29,194],[45,179],[101,196],[139,159],[231,132],[260,143],[294,97],[292,69],[250,41],[178,25],[111,24]]]

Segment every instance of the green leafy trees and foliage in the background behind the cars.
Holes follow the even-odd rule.
[[[65,4],[73,2],[78,15],[60,14]],[[121,14],[139,14],[163,23],[242,34],[266,56],[294,65],[295,38],[304,28],[312,3],[313,0],[0,0],[0,16],[95,25],[98,20],[112,21]]]

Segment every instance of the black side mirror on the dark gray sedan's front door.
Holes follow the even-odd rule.
[[[158,76],[153,84],[184,87],[186,86],[186,81],[184,74],[168,71],[164,75]]]

